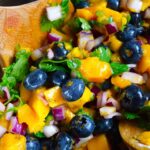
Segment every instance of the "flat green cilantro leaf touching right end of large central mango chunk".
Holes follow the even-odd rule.
[[[118,62],[112,62],[110,66],[112,68],[113,75],[118,75],[129,70],[129,67],[126,64],[121,64]]]

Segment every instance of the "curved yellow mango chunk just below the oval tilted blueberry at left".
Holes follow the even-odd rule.
[[[33,92],[32,97],[29,101],[29,106],[34,110],[39,120],[44,121],[48,115],[50,108],[48,104],[44,104],[39,94],[43,94],[45,88],[37,89]]]

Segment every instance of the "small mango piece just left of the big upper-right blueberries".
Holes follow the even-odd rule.
[[[116,36],[110,36],[109,38],[109,46],[110,49],[114,52],[118,51],[122,45],[122,42],[116,38]]]

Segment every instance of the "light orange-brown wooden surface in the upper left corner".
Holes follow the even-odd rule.
[[[40,47],[46,33],[40,30],[40,20],[47,0],[38,0],[14,7],[0,7],[0,64],[8,66],[20,44],[31,50]]]

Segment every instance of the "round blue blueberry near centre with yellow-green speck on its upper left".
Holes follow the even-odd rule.
[[[70,79],[62,85],[62,95],[67,101],[78,100],[84,92],[85,84],[82,79]]]

